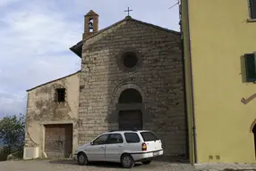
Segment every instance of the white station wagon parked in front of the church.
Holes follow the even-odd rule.
[[[131,168],[138,161],[147,165],[163,152],[161,140],[151,131],[111,131],[78,147],[73,159],[80,165],[87,165],[90,161],[109,161]]]

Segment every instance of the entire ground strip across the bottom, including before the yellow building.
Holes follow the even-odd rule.
[[[194,169],[194,167],[196,169]],[[111,170],[156,170],[156,171],[256,171],[256,164],[196,164],[195,166],[183,163],[170,163],[161,161],[152,161],[149,165],[138,163],[132,169],[124,169],[120,164],[95,162],[89,166],[79,166],[76,161],[69,159],[34,159],[19,161],[0,162],[0,171],[111,171]]]

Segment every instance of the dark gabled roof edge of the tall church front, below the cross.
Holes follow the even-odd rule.
[[[161,29],[161,30],[164,30],[166,32],[170,32],[170,33],[173,33],[175,35],[181,35],[180,32],[178,31],[175,31],[175,30],[172,30],[172,29],[168,29],[168,28],[162,28],[162,27],[159,27],[157,25],[154,25],[154,24],[149,24],[147,22],[143,22],[141,20],[135,20],[135,19],[132,19],[131,16],[127,16],[124,18],[124,20],[119,20],[118,22],[115,22],[114,24],[112,24],[111,26],[107,27],[107,28],[103,28],[103,29],[100,29],[97,33],[91,35],[90,37],[87,37],[85,38],[84,40],[81,40],[79,43],[77,43],[76,45],[73,45],[70,50],[73,52],[73,53],[76,53],[79,57],[81,57],[81,50],[82,50],[82,45],[85,41],[87,41],[88,39],[90,39],[91,37],[95,37],[97,35],[99,35],[100,33],[106,31],[107,29],[109,28],[113,28],[115,27],[116,25],[124,22],[125,20],[132,20],[132,21],[135,21],[137,23],[140,23],[140,24],[143,24],[143,25],[146,25],[146,26],[149,26],[149,27],[152,27],[152,28],[158,28],[158,29]]]

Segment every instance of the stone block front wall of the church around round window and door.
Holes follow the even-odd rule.
[[[163,140],[166,156],[186,153],[186,119],[180,35],[135,20],[124,20],[82,48],[79,144],[118,128],[116,103],[125,88],[136,88],[147,119],[143,128]],[[133,49],[141,63],[132,72],[118,64],[120,53]]]

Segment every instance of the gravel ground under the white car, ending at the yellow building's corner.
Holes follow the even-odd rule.
[[[120,164],[116,163],[90,163],[89,166],[79,166],[73,160],[20,160],[20,161],[4,161],[0,162],[0,170],[8,171],[111,171],[111,170],[158,170],[158,171],[192,171],[192,165],[183,163],[169,163],[152,161],[149,165],[138,163],[132,169],[124,169]]]

